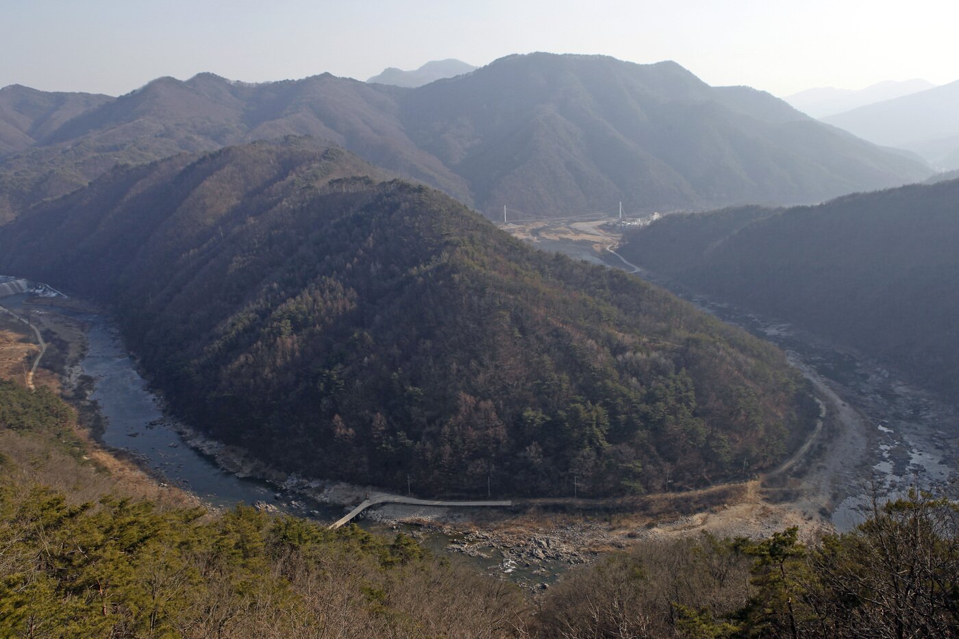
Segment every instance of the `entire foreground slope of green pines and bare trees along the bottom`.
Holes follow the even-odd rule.
[[[0,379],[3,636],[951,637],[959,620],[955,505],[920,494],[815,545],[646,539],[531,601],[403,533],[148,498],[91,448],[54,393]]]

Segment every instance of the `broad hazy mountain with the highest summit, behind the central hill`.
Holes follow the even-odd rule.
[[[746,87],[674,62],[512,56],[404,96],[417,145],[479,208],[532,214],[810,201],[927,172]],[[855,187],[854,187],[855,188]]]

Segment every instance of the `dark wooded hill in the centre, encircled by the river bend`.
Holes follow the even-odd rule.
[[[0,230],[112,302],[175,409],[288,469],[421,493],[616,494],[783,459],[784,355],[304,140],[117,169]]]

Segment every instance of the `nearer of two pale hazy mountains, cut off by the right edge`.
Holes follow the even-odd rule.
[[[959,81],[825,118],[879,145],[921,155],[938,169],[959,169]]]

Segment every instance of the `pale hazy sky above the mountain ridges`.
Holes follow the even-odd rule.
[[[776,95],[959,80],[955,0],[0,0],[0,86],[126,93],[200,71],[365,80],[430,59],[511,53],[673,59]]]

